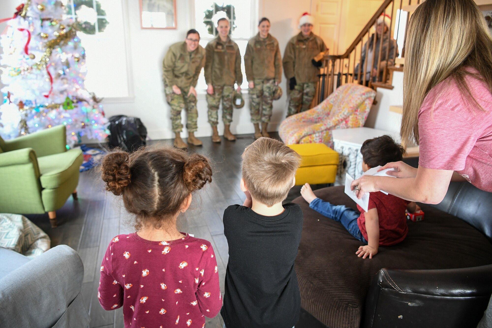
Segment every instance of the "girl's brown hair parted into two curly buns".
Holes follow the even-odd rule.
[[[190,193],[212,182],[207,158],[162,146],[131,154],[110,152],[102,160],[101,171],[106,190],[123,195],[126,210],[136,215],[136,230],[149,224],[161,228]]]

